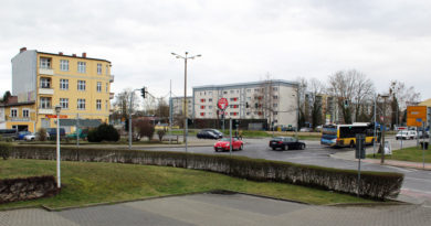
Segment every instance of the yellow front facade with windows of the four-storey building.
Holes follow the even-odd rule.
[[[114,76],[111,75],[111,62],[86,57],[85,53],[76,56],[36,52],[35,55],[36,79],[35,90],[32,92],[34,97],[33,94],[21,95],[33,98],[31,100],[34,103],[28,106],[33,111],[31,116],[33,125],[29,125],[29,131],[41,127],[56,127],[56,119],[53,118],[55,106],[62,106],[60,115],[67,119],[75,119],[78,116],[80,119],[99,119],[102,122],[108,122],[109,99],[113,96],[109,93],[111,83],[114,80]],[[6,109],[6,114],[9,111]],[[12,125],[17,123],[7,121],[7,128],[11,128]],[[70,131],[74,131],[74,128]]]

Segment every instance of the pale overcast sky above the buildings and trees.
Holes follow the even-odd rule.
[[[192,86],[298,76],[323,82],[355,68],[379,92],[398,79],[431,98],[430,0],[2,0],[0,92],[20,47],[112,62],[112,90],[155,96]]]

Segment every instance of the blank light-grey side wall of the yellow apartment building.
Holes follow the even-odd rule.
[[[12,95],[19,101],[34,101],[36,88],[36,51],[24,51],[12,58]]]

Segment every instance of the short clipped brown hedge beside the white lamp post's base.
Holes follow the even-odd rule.
[[[0,204],[48,197],[57,192],[52,175],[0,180]]]

